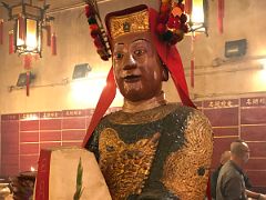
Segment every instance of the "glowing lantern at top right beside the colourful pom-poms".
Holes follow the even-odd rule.
[[[191,32],[204,32],[207,36],[207,0],[185,0],[185,10],[190,18]]]

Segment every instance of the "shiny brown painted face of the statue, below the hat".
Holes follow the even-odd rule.
[[[147,100],[161,92],[165,69],[149,32],[129,33],[115,39],[113,67],[116,84],[125,99]]]

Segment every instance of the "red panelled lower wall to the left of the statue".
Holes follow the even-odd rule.
[[[42,148],[81,146],[92,112],[86,109],[1,116],[1,176],[37,169]]]

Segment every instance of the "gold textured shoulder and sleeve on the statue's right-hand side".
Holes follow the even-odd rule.
[[[204,199],[213,153],[213,130],[197,109],[180,106],[173,114],[184,119],[184,146],[164,164],[163,183],[180,199]]]

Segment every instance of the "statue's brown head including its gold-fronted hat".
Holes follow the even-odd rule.
[[[130,11],[108,19],[112,61],[120,92],[130,101],[142,101],[158,96],[168,76],[152,41],[147,8]]]

